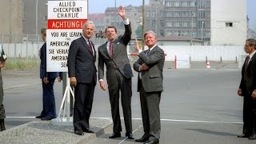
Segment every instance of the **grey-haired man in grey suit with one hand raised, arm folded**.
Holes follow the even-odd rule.
[[[162,87],[162,68],[165,62],[164,51],[157,45],[157,37],[153,31],[144,34],[144,41],[149,50],[142,51],[136,40],[135,50],[138,61],[134,62],[134,70],[138,71],[138,91],[141,101],[144,134],[136,142],[159,143],[160,110],[159,103]]]

